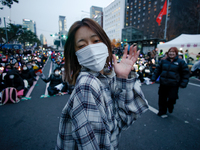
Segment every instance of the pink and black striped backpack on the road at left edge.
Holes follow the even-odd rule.
[[[20,100],[17,98],[17,90],[13,87],[5,88],[2,91],[1,104],[4,105],[7,102],[18,103]]]

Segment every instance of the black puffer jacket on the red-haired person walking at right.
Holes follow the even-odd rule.
[[[152,81],[160,76],[160,84],[185,88],[188,84],[190,73],[184,60],[176,56],[171,62],[168,57],[161,60],[152,76]]]

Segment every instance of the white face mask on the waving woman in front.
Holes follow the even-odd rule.
[[[90,44],[76,52],[80,65],[93,71],[104,68],[108,55],[108,48],[104,43]]]

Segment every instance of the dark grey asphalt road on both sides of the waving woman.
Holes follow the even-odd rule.
[[[50,61],[43,72],[49,74]],[[160,118],[159,84],[141,88],[151,109],[122,132],[119,150],[199,150],[200,81],[190,78],[187,88],[179,90],[174,112]],[[59,117],[69,95],[41,98],[46,83],[39,79],[31,99],[0,106],[1,150],[53,150],[56,145]]]

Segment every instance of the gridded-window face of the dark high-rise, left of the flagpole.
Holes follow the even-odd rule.
[[[164,34],[163,26],[166,16],[163,16],[161,26],[158,26],[156,22],[164,2],[165,0],[126,0],[124,27],[137,28],[143,32],[144,39],[156,38],[159,37],[159,34]],[[169,3],[168,16],[171,13],[170,5],[171,2]]]

